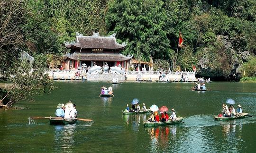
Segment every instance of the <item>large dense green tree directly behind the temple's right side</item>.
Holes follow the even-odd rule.
[[[109,34],[128,42],[123,52],[141,55],[142,60],[169,59],[169,41],[164,31],[167,16],[161,0],[113,0],[109,2],[106,25]]]

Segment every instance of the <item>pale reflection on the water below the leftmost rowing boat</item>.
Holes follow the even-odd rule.
[[[75,145],[76,125],[55,126],[55,151],[72,152]]]

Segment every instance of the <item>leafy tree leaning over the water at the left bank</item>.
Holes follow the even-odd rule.
[[[9,70],[11,87],[8,91],[0,89],[0,108],[9,108],[20,100],[53,90],[53,80],[45,71],[42,61],[35,61],[34,65],[31,65],[27,61],[16,60],[15,67]]]

